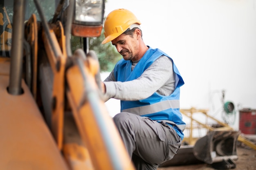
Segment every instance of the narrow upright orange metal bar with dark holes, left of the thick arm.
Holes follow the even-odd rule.
[[[59,24],[59,29],[63,31],[63,27]],[[56,29],[55,29],[56,31]],[[47,53],[48,60],[50,62],[52,71],[54,73],[53,89],[52,89],[52,133],[56,139],[58,148],[61,150],[63,145],[63,121],[64,121],[64,84],[65,84],[65,62],[67,56],[63,54],[61,46],[64,41],[59,45],[59,41],[56,38],[54,29],[50,29],[50,37],[54,46],[51,46],[49,39],[45,36],[43,31],[43,42],[45,44],[45,50]],[[54,49],[53,49],[54,48]],[[56,55],[54,51],[56,51]]]

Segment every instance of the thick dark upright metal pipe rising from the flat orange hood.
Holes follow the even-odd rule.
[[[13,33],[11,44],[11,66],[8,92],[12,95],[22,94],[22,57],[24,39],[25,0],[14,0]]]

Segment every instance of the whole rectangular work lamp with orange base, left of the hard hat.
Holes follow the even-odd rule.
[[[105,0],[76,0],[72,35],[99,37],[103,27]]]

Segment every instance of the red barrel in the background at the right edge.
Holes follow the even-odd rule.
[[[239,130],[244,134],[256,135],[256,110],[239,110]]]

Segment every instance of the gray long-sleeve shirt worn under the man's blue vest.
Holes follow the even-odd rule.
[[[139,61],[133,62],[132,69]],[[175,73],[172,61],[161,56],[151,64],[140,77],[132,81],[117,82],[112,71],[104,80],[106,101],[110,98],[134,101],[146,99],[153,93],[170,95],[175,90]]]

